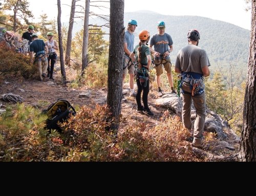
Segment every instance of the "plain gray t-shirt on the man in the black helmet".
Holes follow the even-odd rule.
[[[182,48],[175,61],[175,68],[182,72],[194,72],[203,74],[202,68],[210,66],[205,50],[196,45],[189,44]]]

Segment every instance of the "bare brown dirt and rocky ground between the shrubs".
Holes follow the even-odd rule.
[[[60,73],[55,73],[54,76],[55,80],[53,85],[48,84],[49,81],[52,81],[49,80],[49,78],[44,78],[43,82],[34,79],[26,80],[20,78],[0,78],[0,97],[7,93],[19,95],[24,98],[25,104],[33,105],[43,110],[47,109],[48,106],[41,108],[41,101],[47,101],[50,104],[59,98],[64,98],[74,106],[88,105],[93,107],[98,102],[99,98],[106,97],[107,95],[106,88],[68,88],[67,85],[61,84]],[[121,115],[123,118],[126,118],[126,120],[121,122],[119,126],[120,130],[125,129],[125,126],[128,124],[134,124],[138,121],[147,122],[150,124],[150,126],[155,126],[160,122],[160,118],[163,116],[167,108],[162,108],[155,105],[155,101],[158,98],[156,95],[157,92],[151,91],[148,96],[148,104],[150,105],[152,112],[155,114],[154,116],[149,117],[147,115],[136,112],[136,100],[134,97],[129,97],[130,91],[127,85],[124,86],[124,91],[127,91],[127,93],[124,95],[127,101],[122,101]],[[90,96],[80,97],[79,95],[82,92],[90,92]],[[0,105],[1,104],[5,105],[6,102],[0,99]],[[100,104],[104,103],[101,101]],[[169,113],[171,115],[175,115],[170,111]],[[231,161],[234,161],[234,157],[236,157],[236,152],[238,151],[239,147],[239,140],[231,130],[226,130],[226,134],[228,138],[225,142],[232,147],[225,147],[226,145],[222,145],[221,142],[216,142],[214,144],[215,147],[212,148],[211,151],[205,152],[206,154],[211,154],[211,156],[214,154],[215,156],[213,156],[213,160],[216,159],[217,161],[230,161],[231,159]]]

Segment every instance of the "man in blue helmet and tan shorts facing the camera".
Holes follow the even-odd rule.
[[[172,63],[170,63],[170,52],[173,51],[173,39],[165,33],[164,21],[159,21],[157,24],[158,33],[154,34],[150,40],[150,51],[154,53],[155,69],[156,69],[156,82],[158,86],[158,96],[163,96],[161,89],[161,75],[164,70],[167,72],[167,79],[170,85],[171,93],[176,93],[174,90],[173,76],[172,76]],[[154,46],[154,50],[153,47]]]

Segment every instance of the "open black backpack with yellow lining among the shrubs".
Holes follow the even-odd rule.
[[[47,129],[56,129],[58,132],[61,132],[62,129],[59,127],[58,122],[66,121],[69,119],[70,114],[75,116],[76,111],[69,101],[60,98],[48,107],[45,114],[48,116],[46,122]]]

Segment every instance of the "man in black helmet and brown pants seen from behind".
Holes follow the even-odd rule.
[[[207,77],[210,75],[208,68],[210,66],[210,62],[205,50],[198,47],[200,39],[199,32],[195,29],[191,29],[187,33],[187,38],[188,45],[182,48],[177,54],[175,61],[175,72],[182,75],[182,123],[189,131],[193,130],[190,119],[191,102],[193,100],[197,116],[194,123],[194,139],[192,146],[202,148],[203,130],[206,116],[205,92],[202,77]],[[200,91],[196,91],[195,89],[200,89]]]

